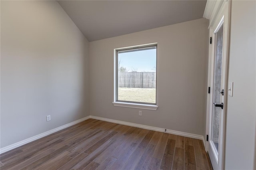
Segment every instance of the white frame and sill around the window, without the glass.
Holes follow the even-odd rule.
[[[158,108],[157,106],[157,85],[156,85],[156,103],[139,103],[139,102],[132,102],[132,101],[117,101],[117,53],[118,51],[129,51],[131,49],[136,48],[145,48],[145,47],[156,47],[156,65],[157,65],[157,43],[150,43],[150,44],[144,44],[144,45],[136,45],[131,47],[123,47],[123,48],[116,48],[114,49],[114,106],[118,107],[130,107],[130,108],[136,108],[136,109],[147,109],[147,110],[156,110]],[[156,84],[157,84],[157,66],[156,66]]]

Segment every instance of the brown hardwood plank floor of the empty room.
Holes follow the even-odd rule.
[[[208,170],[201,140],[88,119],[0,155],[1,170]]]

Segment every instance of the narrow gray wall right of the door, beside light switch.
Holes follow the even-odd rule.
[[[256,127],[256,1],[232,1],[226,169],[252,170]]]

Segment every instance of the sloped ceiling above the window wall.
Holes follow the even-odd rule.
[[[203,17],[206,0],[59,0],[88,41]]]

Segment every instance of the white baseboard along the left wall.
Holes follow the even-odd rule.
[[[59,131],[59,130],[62,130],[62,129],[64,129],[64,128],[70,127],[70,126],[72,126],[72,125],[76,125],[76,124],[78,124],[78,123],[80,123],[80,122],[82,122],[82,121],[85,121],[85,120],[87,120],[87,119],[90,119],[90,116],[84,117],[84,118],[82,118],[82,119],[79,119],[79,120],[77,120],[77,121],[68,123],[68,124],[66,124],[66,125],[63,125],[63,126],[60,126],[60,127],[57,127],[57,128],[54,128],[54,129],[52,129],[52,130],[49,130],[49,131],[47,131],[47,132],[38,134],[38,135],[36,135],[36,136],[32,136],[31,138],[27,138],[27,139],[25,139],[25,140],[22,140],[22,141],[20,141],[20,142],[14,143],[14,144],[11,144],[11,145],[6,146],[6,147],[4,147],[4,148],[0,148],[0,154],[2,154],[2,153],[4,153],[4,152],[7,152],[7,151],[9,151],[9,150],[12,150],[12,149],[14,149],[14,148],[18,148],[19,146],[22,146],[22,145],[24,145],[24,144],[27,144],[27,143],[29,143],[29,142],[32,142],[32,141],[34,141],[34,140],[37,140],[37,139],[39,139],[39,138],[42,138],[42,137],[44,137],[44,136],[47,136],[47,135],[49,135],[49,134],[52,134],[52,133],[57,132],[57,131]]]

